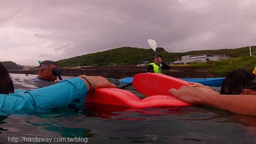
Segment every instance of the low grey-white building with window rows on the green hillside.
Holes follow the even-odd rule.
[[[188,64],[191,62],[204,63],[209,61],[218,61],[218,60],[226,60],[231,57],[229,56],[221,56],[221,55],[212,55],[212,54],[198,54],[198,55],[188,55],[182,56],[181,60],[176,60],[174,64]]]

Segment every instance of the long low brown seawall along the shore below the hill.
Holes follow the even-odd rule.
[[[163,70],[164,74],[176,78],[218,78],[209,72],[208,68],[198,68],[195,66],[172,66],[169,70]],[[82,67],[82,68],[63,68],[62,76],[103,76],[104,78],[126,78],[133,77],[135,74],[147,72],[146,66],[116,66],[116,67]],[[9,70],[14,74],[38,74],[35,70]]]

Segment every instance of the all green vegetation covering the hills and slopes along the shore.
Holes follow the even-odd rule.
[[[256,55],[256,46],[251,46],[252,54]],[[179,66],[198,66],[200,68],[206,68],[211,66],[210,72],[215,75],[224,77],[226,74],[235,69],[246,69],[253,71],[256,66],[256,57],[250,56],[249,47],[236,48],[236,49],[220,49],[220,50],[196,50],[190,52],[166,52],[164,48],[156,48],[158,55],[164,57],[165,62],[174,62],[181,59],[186,55],[197,54],[218,54],[233,57],[228,60],[212,61],[208,63],[196,63],[179,65]],[[136,65],[139,61],[153,61],[154,51],[152,49],[122,47],[104,52],[96,52],[92,54],[86,54],[82,56],[76,56],[74,58],[68,58],[64,60],[58,60],[58,64],[61,67],[76,67],[76,66],[110,66],[118,65]],[[8,70],[20,70],[23,69],[17,66],[14,62],[2,62]],[[172,65],[178,66],[178,65]]]

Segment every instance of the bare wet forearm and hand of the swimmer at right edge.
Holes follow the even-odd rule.
[[[191,104],[203,104],[238,114],[256,116],[255,95],[206,94],[197,88],[189,86],[181,86],[178,90],[170,89],[169,93]]]

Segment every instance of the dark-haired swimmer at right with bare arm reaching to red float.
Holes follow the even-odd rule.
[[[256,116],[256,75],[247,70],[234,70],[226,76],[220,94],[210,87],[190,83],[178,90],[170,89],[172,96],[190,104],[203,104],[238,114]],[[243,96],[241,96],[243,95]]]

